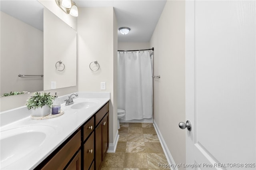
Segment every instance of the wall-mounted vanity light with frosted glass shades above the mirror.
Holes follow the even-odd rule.
[[[55,2],[67,14],[78,16],[76,3],[72,0],[55,0]]]

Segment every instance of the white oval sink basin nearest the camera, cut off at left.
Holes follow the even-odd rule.
[[[1,132],[0,155],[1,168],[4,168],[20,158],[35,152],[55,131],[46,125],[34,125],[13,128]]]

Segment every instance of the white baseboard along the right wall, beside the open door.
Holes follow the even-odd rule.
[[[162,146],[162,148],[163,148],[163,150],[164,150],[164,154],[165,154],[165,156],[166,156],[166,159],[167,159],[167,161],[168,161],[168,164],[175,165],[174,159],[172,158],[172,154],[170,153],[170,150],[168,149],[168,147],[167,147],[167,145],[166,145],[166,142],[164,141],[164,138],[163,138],[163,136],[162,136],[162,134],[161,134],[161,132],[160,132],[160,130],[159,130],[159,128],[158,128],[158,126],[157,126],[157,124],[156,124],[155,121],[154,121],[153,125],[154,125],[154,128],[155,128],[155,130],[156,130],[156,134],[157,134],[157,136],[158,136],[158,138],[159,138],[159,140],[160,140],[160,144],[161,144],[161,146]],[[178,170],[178,168],[175,167],[175,168],[173,169],[173,168],[171,167],[171,170]]]

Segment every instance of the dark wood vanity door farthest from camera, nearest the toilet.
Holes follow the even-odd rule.
[[[108,114],[103,118],[102,123],[102,156],[104,160],[104,156],[108,150]]]

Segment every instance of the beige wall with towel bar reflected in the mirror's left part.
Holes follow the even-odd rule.
[[[10,91],[42,91],[42,77],[18,77],[18,74],[43,74],[43,32],[4,12],[0,15],[0,95]]]

